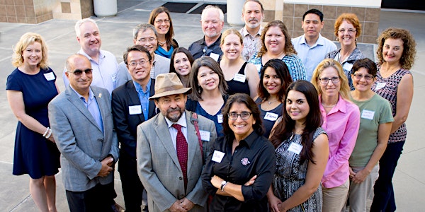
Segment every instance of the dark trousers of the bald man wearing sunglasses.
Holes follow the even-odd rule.
[[[84,192],[71,192],[67,190],[67,200],[69,211],[71,212],[92,212],[111,211],[113,212],[113,200],[117,194],[110,184],[96,184],[95,187]]]

